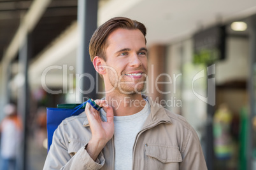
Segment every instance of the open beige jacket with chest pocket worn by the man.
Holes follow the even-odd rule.
[[[157,103],[150,102],[150,109],[136,136],[132,169],[207,169],[197,133],[188,122]],[[53,134],[43,169],[114,169],[113,138],[96,162],[85,150],[90,138],[85,112],[65,119]]]

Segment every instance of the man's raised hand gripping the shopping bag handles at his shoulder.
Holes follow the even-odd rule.
[[[107,121],[103,122],[99,111],[94,109],[90,103],[86,103],[85,114],[90,124],[90,130],[92,131],[92,139],[89,141],[86,150],[93,160],[97,159],[97,156],[103,150],[106,143],[113,137],[114,134],[114,114],[113,108],[106,104],[105,100],[94,101],[99,107],[106,108]]]

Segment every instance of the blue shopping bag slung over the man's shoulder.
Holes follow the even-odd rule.
[[[48,138],[48,150],[52,145],[52,137],[55,129],[59,124],[70,117],[71,115],[79,115],[85,110],[85,104],[89,102],[96,110],[100,110],[101,107],[96,105],[91,99],[83,102],[82,104],[60,104],[57,108],[46,108],[47,111],[47,138]]]

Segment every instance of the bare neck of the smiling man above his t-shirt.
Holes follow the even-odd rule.
[[[106,94],[106,101],[113,107],[113,112],[115,116],[132,115],[141,111],[145,105],[146,101],[142,98],[141,94]]]

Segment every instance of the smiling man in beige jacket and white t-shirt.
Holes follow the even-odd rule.
[[[44,169],[207,169],[196,132],[180,115],[141,95],[147,73],[146,28],[111,18],[90,41],[106,96],[64,120]]]

